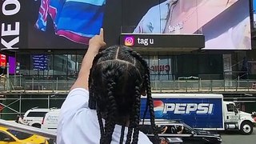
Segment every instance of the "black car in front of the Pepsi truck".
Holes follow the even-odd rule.
[[[158,127],[159,137],[165,138],[168,143],[222,143],[220,134],[214,131],[195,130],[184,122],[156,119],[155,123]],[[178,127],[183,127],[182,132],[178,133]],[[144,125],[141,123],[140,130],[144,134],[147,134],[150,139],[154,136],[150,126],[150,121],[148,120],[144,122]]]

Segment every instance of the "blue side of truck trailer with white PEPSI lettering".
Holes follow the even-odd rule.
[[[146,98],[142,98],[141,118],[145,110]],[[223,128],[221,98],[156,98],[154,114],[158,119],[182,120],[194,128]]]

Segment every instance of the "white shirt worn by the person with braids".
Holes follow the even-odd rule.
[[[96,110],[88,107],[89,92],[82,88],[70,91],[62,104],[58,118],[58,144],[98,144],[101,138]],[[112,144],[118,144],[122,126],[115,125],[112,135]],[[124,142],[126,142],[125,129]],[[139,132],[138,143],[152,143],[146,134]]]

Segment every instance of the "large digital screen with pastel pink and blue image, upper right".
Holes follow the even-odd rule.
[[[251,49],[249,0],[130,0],[122,7],[125,33],[203,34],[204,50]]]

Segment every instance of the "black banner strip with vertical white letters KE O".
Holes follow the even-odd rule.
[[[0,1],[1,19],[1,50],[16,50],[26,46],[26,1],[2,0]],[[29,16],[29,15],[27,15]]]

